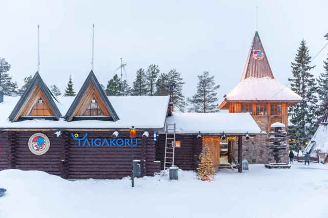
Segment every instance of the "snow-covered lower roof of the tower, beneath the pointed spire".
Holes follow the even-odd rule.
[[[227,101],[302,101],[302,98],[288,87],[268,77],[242,80],[226,99]]]

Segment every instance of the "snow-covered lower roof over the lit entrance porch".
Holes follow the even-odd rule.
[[[177,113],[166,119],[176,125],[176,133],[188,134],[263,134],[249,113]]]

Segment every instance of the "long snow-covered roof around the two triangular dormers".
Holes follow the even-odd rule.
[[[164,127],[169,104],[169,96],[110,96],[119,120],[80,120],[66,122],[60,120],[25,120],[10,122],[8,117],[13,111],[20,97],[4,97],[0,103],[0,129],[1,128],[154,128]],[[60,113],[66,114],[75,97],[58,96],[55,101]]]

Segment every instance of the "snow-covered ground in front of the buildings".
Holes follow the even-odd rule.
[[[328,217],[328,166],[294,162],[291,169],[250,165],[202,182],[191,171],[122,180],[67,181],[41,171],[0,171],[0,217]]]

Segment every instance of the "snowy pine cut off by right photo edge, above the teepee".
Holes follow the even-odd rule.
[[[328,33],[324,35],[328,40]],[[325,61],[323,61],[323,69],[324,72],[320,73],[318,81],[318,95],[320,100],[320,114],[323,116],[324,112],[328,110],[328,57]],[[320,119],[321,120],[321,119]]]

